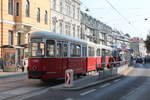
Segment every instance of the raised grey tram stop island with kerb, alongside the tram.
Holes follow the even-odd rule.
[[[61,84],[58,86],[51,87],[50,89],[52,90],[80,90],[80,89],[92,87],[94,85],[98,85],[104,82],[112,81],[114,79],[118,79],[120,77],[126,76],[132,70],[133,70],[133,67],[128,67],[128,69],[126,69],[121,74],[114,75],[112,77],[107,77],[107,78],[100,78],[99,74],[97,73],[95,75],[90,75],[90,76],[86,76],[81,79],[75,80],[73,87],[67,88],[65,87],[65,84]]]

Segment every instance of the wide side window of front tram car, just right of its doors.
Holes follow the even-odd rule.
[[[77,44],[71,44],[71,57],[81,56],[81,46]]]

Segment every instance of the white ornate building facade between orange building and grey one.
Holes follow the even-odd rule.
[[[81,38],[80,0],[51,0],[51,31]]]

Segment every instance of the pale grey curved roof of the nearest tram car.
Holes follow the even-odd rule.
[[[64,41],[75,41],[83,44],[87,44],[85,41],[76,39],[73,37],[69,37],[66,35],[58,34],[55,32],[46,32],[46,31],[37,31],[31,33],[30,38],[46,38],[46,39],[57,39],[57,40],[64,40]]]

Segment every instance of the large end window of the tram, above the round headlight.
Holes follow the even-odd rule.
[[[41,57],[45,55],[45,46],[44,43],[32,43],[31,49],[32,57]]]

